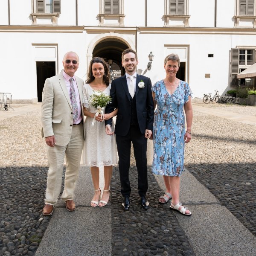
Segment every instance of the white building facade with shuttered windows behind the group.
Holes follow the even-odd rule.
[[[177,76],[194,98],[255,86],[236,75],[256,62],[256,0],[1,0],[0,39],[0,92],[17,101],[40,102],[67,51],[78,53],[82,79],[94,56],[111,64],[114,79],[124,74],[128,47],[152,83],[165,77],[166,55],[177,53]]]

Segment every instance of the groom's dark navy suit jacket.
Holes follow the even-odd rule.
[[[145,87],[140,88],[138,83],[144,82]],[[126,76],[121,76],[114,79],[110,90],[111,104],[107,105],[105,113],[111,113],[115,108],[118,108],[116,116],[115,134],[126,136],[131,125],[131,96],[128,90]],[[154,120],[154,102],[151,91],[151,80],[146,76],[137,74],[136,91],[135,91],[137,119],[142,134],[145,129],[153,129]],[[106,120],[105,124],[111,125],[112,119]]]

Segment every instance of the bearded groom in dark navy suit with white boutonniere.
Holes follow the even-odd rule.
[[[118,108],[116,116],[116,145],[119,156],[119,173],[121,181],[122,208],[130,208],[131,186],[129,168],[131,158],[131,143],[134,147],[134,157],[138,171],[138,190],[140,204],[148,209],[146,199],[148,189],[147,174],[147,139],[151,137],[154,119],[154,102],[151,92],[151,81],[146,76],[136,72],[138,64],[137,53],[133,49],[122,52],[122,66],[125,76],[112,81],[110,96],[111,104],[107,105],[105,113],[111,113]],[[106,133],[112,135],[111,119],[105,121]]]

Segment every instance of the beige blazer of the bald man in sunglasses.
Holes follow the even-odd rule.
[[[75,76],[79,90],[81,108],[84,82]],[[84,113],[81,109],[84,121]],[[55,136],[56,145],[65,146],[69,143],[72,133],[72,105],[62,73],[47,78],[44,83],[41,108],[42,137]],[[84,131],[85,134],[85,131]]]

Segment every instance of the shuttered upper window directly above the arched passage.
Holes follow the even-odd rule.
[[[124,0],[100,0],[98,17],[100,26],[123,26]]]

